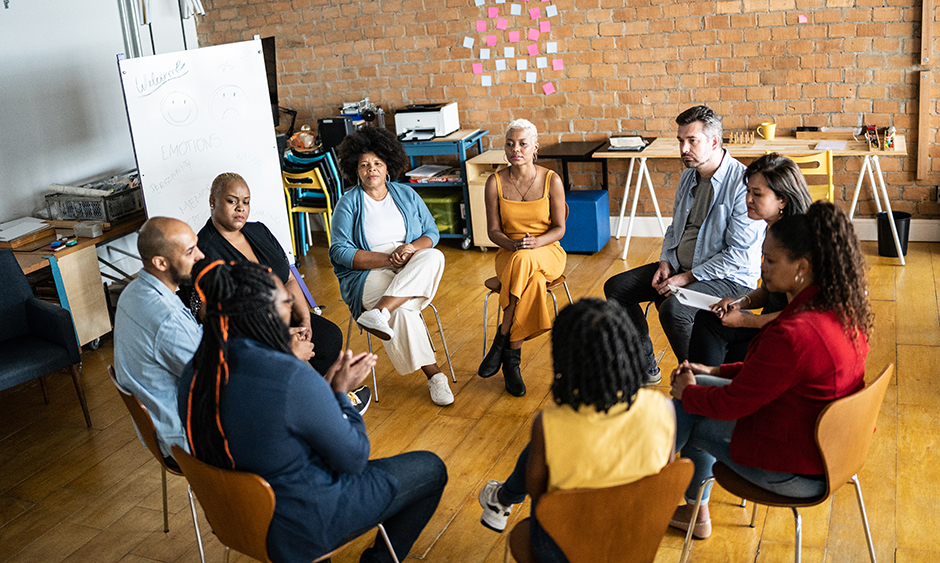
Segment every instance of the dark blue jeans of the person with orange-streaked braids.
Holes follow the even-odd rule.
[[[349,541],[363,532],[385,523],[385,531],[400,561],[411,551],[421,531],[427,525],[447,484],[447,467],[441,458],[431,452],[407,452],[375,459],[370,466],[387,471],[398,479],[398,492],[391,504],[375,522],[363,526],[344,540]],[[390,563],[392,556],[385,546],[382,533],[376,532],[375,543],[362,552],[360,563]]]

